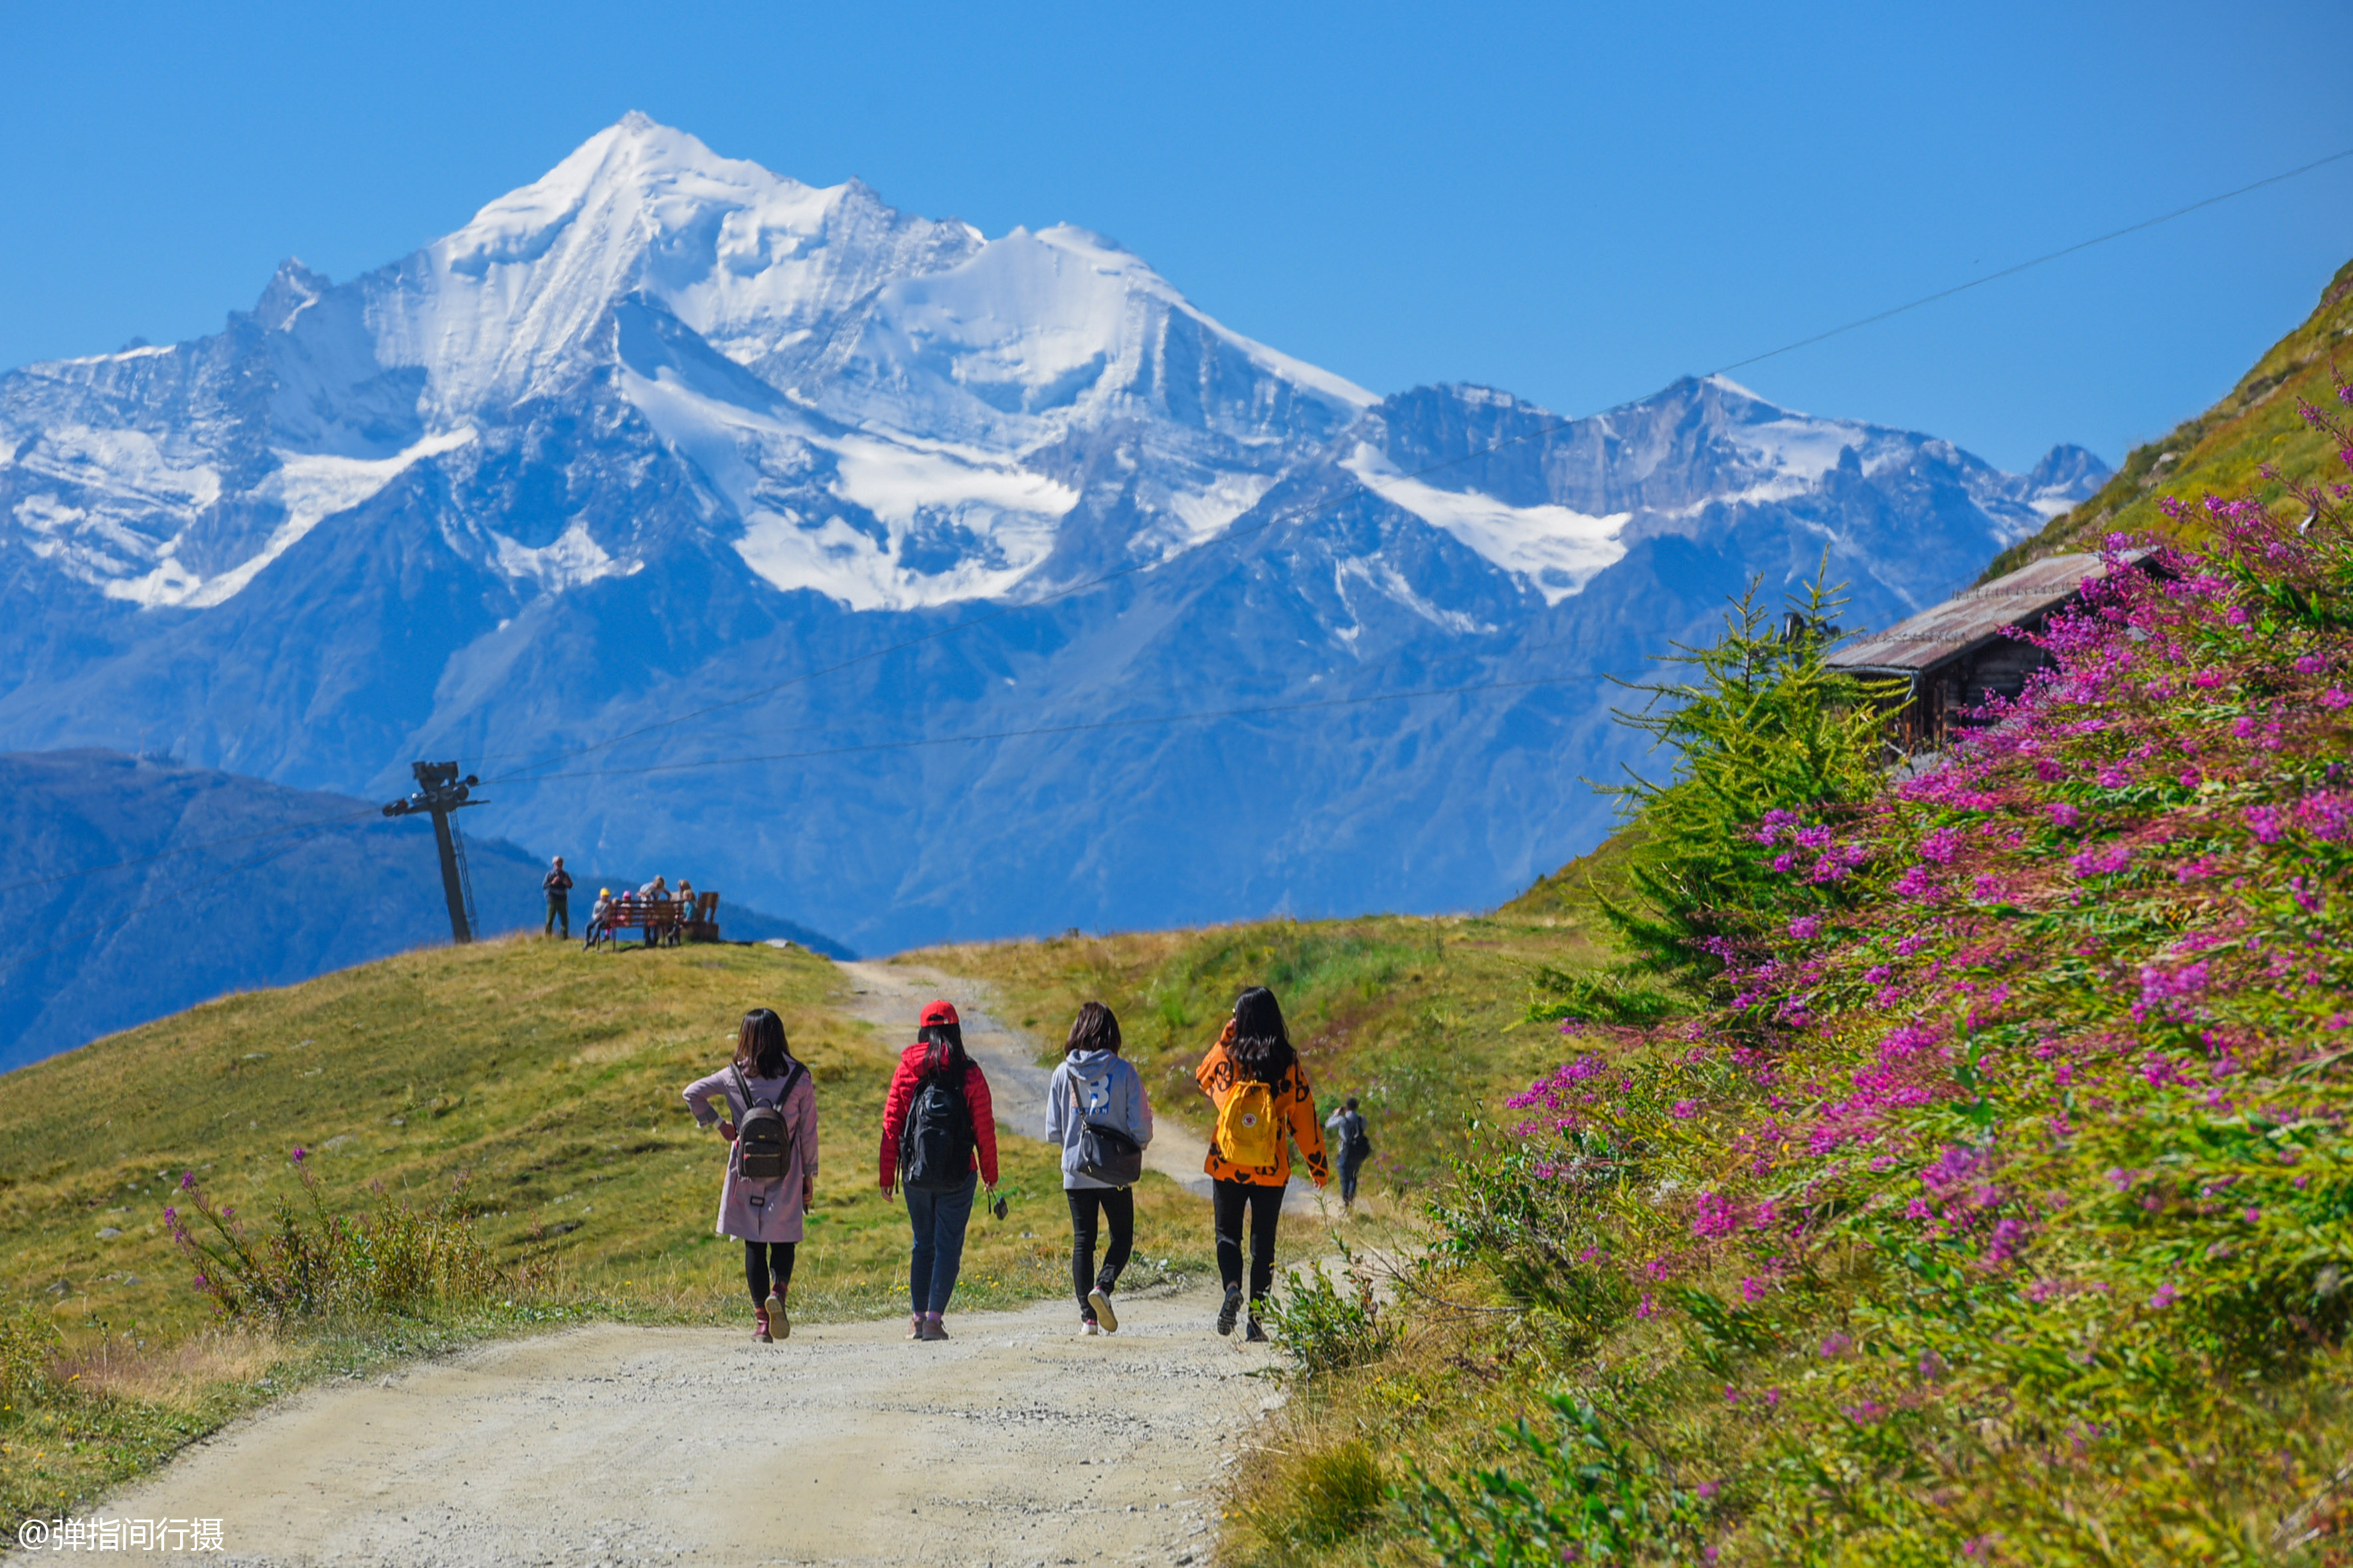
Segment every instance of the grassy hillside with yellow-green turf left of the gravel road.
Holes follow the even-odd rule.
[[[19,1347],[54,1326],[35,1349],[75,1389],[28,1401],[19,1387],[0,1410],[0,1509],[87,1497],[235,1408],[384,1349],[551,1314],[748,1324],[741,1248],[711,1234],[722,1145],[678,1098],[727,1060],[748,1006],[784,1016],[819,1088],[795,1309],[904,1309],[906,1220],[875,1190],[904,1039],[835,1011],[838,990],[807,952],[515,938],[224,997],[0,1074],[0,1321]],[[492,1258],[536,1284],[511,1307],[224,1338],[162,1211],[193,1171],[259,1225],[299,1197],[296,1145],[332,1208],[365,1213],[379,1187],[419,1206],[454,1194]],[[974,1220],[965,1307],[1068,1288],[1056,1157],[1026,1138],[1002,1154],[1012,1213]],[[1162,1260],[1207,1267],[1195,1199],[1155,1175],[1144,1213],[1158,1244],[1139,1286]]]

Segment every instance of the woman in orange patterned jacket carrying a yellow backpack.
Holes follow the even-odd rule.
[[[1315,1185],[1332,1180],[1322,1124],[1315,1121],[1315,1091],[1292,1051],[1275,992],[1252,985],[1235,997],[1226,1032],[1200,1058],[1193,1079],[1217,1105],[1217,1133],[1209,1138],[1209,1159],[1202,1161],[1214,1182],[1209,1218],[1217,1227],[1217,1272],[1226,1281],[1217,1331],[1233,1333],[1233,1319],[1242,1312],[1242,1218],[1249,1215],[1249,1328],[1242,1338],[1266,1340],[1259,1302],[1275,1284],[1275,1220],[1292,1180],[1285,1131],[1306,1154]]]

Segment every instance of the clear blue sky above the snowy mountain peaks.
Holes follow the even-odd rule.
[[[1899,14],[1901,12],[1901,14]],[[1374,390],[1562,414],[2353,146],[2353,7],[0,0],[0,367],[348,277],[628,108],[988,233],[1082,223]],[[2353,160],[1741,371],[2019,468],[2205,407]]]

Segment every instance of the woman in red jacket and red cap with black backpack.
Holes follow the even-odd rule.
[[[965,1056],[965,1025],[953,1006],[932,1001],[882,1100],[882,1194],[906,1187],[906,1218],[915,1229],[906,1265],[911,1340],[948,1338],[939,1319],[965,1265],[974,1178],[998,1197],[998,1117],[988,1079]]]

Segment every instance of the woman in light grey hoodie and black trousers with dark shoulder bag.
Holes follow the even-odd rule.
[[[1144,1077],[1120,1056],[1120,1020],[1087,1001],[1071,1020],[1061,1067],[1045,1091],[1045,1135],[1061,1145],[1061,1197],[1071,1204],[1071,1288],[1080,1333],[1118,1333],[1111,1288],[1136,1246],[1136,1190],[1153,1140]],[[1096,1222],[1111,1222],[1104,1269],[1094,1269]]]

